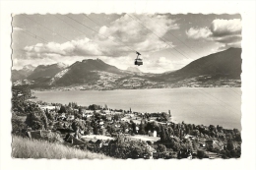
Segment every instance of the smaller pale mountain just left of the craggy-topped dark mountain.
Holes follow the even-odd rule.
[[[39,65],[37,66],[32,74],[27,78],[28,80],[35,81],[38,79],[52,78],[57,73],[65,69],[66,65],[64,64],[52,64],[52,65]]]

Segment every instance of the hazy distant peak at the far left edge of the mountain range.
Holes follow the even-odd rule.
[[[27,78],[32,74],[34,68],[32,65],[26,65],[21,70],[12,70],[12,81],[16,82]]]

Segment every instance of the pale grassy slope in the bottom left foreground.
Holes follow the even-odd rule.
[[[35,141],[17,136],[13,136],[12,148],[12,157],[15,158],[112,159],[103,154],[71,148],[59,143]]]

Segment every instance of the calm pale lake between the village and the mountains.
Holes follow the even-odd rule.
[[[33,91],[34,100],[139,112],[167,112],[175,122],[220,125],[241,130],[241,90],[238,87],[180,87],[118,90]]]

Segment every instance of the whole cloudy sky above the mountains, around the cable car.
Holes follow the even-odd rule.
[[[142,72],[173,71],[241,47],[241,22],[239,14],[14,15],[13,69],[98,58],[126,70],[139,51]]]

